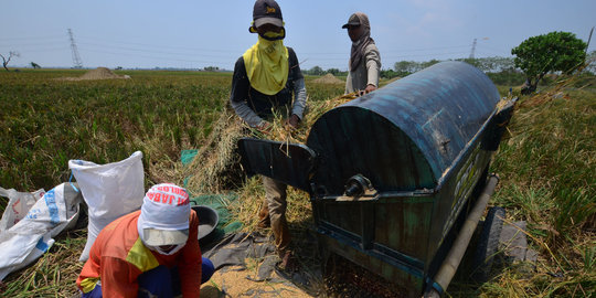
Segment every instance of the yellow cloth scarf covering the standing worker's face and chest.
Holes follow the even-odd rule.
[[[253,88],[266,95],[275,95],[286,86],[288,49],[284,46],[283,40],[268,41],[258,36],[257,43],[242,56]]]

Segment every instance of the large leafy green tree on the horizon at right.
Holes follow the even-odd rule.
[[[532,93],[550,72],[572,73],[586,58],[586,43],[570,32],[551,32],[532,36],[511,50],[515,66],[525,73],[522,93]]]

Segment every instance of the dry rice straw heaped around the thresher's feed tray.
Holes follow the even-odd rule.
[[[242,137],[254,137],[305,143],[308,131],[321,115],[355,97],[355,94],[348,94],[328,100],[308,102],[297,129],[290,129],[285,124],[286,119],[281,113],[275,113],[270,121],[272,129],[267,134],[243,124],[233,110],[224,110],[220,119],[213,124],[214,129],[207,141],[185,169],[185,174],[189,177],[187,188],[193,194],[221,193],[225,190],[236,189],[238,200],[237,204],[233,206],[233,212],[236,219],[244,224],[243,230],[254,231],[258,212],[265,199],[265,190],[259,175],[248,180],[244,178],[240,166],[240,155],[236,151],[237,140]],[[240,188],[241,185],[242,188]],[[292,224],[292,228],[306,227],[311,222],[310,216],[305,216],[311,214],[308,194],[288,188],[287,201],[286,216],[288,222]]]

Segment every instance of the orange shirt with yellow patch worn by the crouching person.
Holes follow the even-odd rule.
[[[137,231],[139,215],[140,211],[124,215],[99,232],[76,279],[78,288],[89,292],[102,280],[104,297],[137,297],[139,275],[164,265],[178,266],[183,297],[199,297],[202,260],[196,213],[191,210],[187,244],[172,255],[161,255],[142,244]]]

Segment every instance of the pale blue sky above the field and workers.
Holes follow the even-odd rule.
[[[233,70],[252,46],[254,0],[2,0],[0,54],[9,66]],[[511,56],[530,36],[566,31],[587,42],[595,0],[279,0],[286,39],[302,70],[348,68],[351,42],[341,25],[369,15],[382,68],[397,61]],[[596,33],[588,52],[596,50]]]

